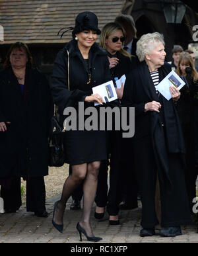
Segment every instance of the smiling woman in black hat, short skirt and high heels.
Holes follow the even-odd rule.
[[[64,109],[78,109],[79,103],[84,103],[84,110],[94,107],[94,103],[104,107],[102,97],[92,94],[92,87],[111,80],[106,51],[96,44],[97,34],[100,34],[96,15],[90,12],[80,13],[76,18],[75,28],[71,29],[73,40],[57,54],[51,77],[51,93],[63,119]],[[98,107],[95,109],[98,110]],[[66,202],[83,181],[83,213],[77,230],[80,237],[83,233],[89,241],[99,241],[102,238],[94,237],[90,228],[90,210],[96,194],[100,161],[107,158],[106,132],[85,129],[66,131],[64,148],[66,162],[72,166],[72,173],[65,181],[61,199],[55,202],[53,226],[63,232]]]

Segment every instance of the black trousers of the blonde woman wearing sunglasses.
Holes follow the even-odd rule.
[[[108,160],[101,161],[95,202],[107,206],[108,214],[116,216],[121,202],[121,132],[108,132],[110,145],[110,188],[108,191]]]

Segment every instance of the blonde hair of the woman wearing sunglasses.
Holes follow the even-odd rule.
[[[100,46],[102,48],[104,48],[106,50],[106,43],[105,40],[106,38],[108,38],[111,34],[113,34],[114,32],[116,32],[117,30],[121,30],[123,32],[123,36],[125,36],[125,30],[123,29],[123,27],[116,23],[116,22],[109,22],[107,23],[101,30],[101,34],[100,34]],[[127,56],[129,58],[131,58],[131,54],[129,54],[127,51],[123,50],[123,48],[121,48],[119,50],[119,52],[123,55],[123,56]]]

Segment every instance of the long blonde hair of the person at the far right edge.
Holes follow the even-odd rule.
[[[180,54],[180,60],[178,63],[178,67],[176,69],[176,73],[178,75],[182,75],[182,70],[180,69],[180,64],[184,62],[185,64],[189,65],[192,69],[192,77],[194,82],[196,82],[198,80],[198,73],[197,70],[195,69],[195,64],[193,62],[193,58],[191,57],[191,55],[188,52],[181,52]]]

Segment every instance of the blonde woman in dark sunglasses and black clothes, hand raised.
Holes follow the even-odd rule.
[[[112,80],[115,82],[115,77],[118,79],[123,75],[127,75],[129,71],[136,65],[136,58],[123,50],[122,45],[125,40],[125,31],[116,22],[110,22],[102,28],[100,35],[100,46],[108,52],[110,62],[110,70]],[[123,85],[120,89],[116,88],[118,99],[122,98]],[[114,105],[115,105],[114,101]],[[117,106],[121,107],[119,101]],[[114,107],[110,105],[110,107]],[[121,132],[109,131],[108,144],[110,153],[110,189],[108,192],[108,160],[102,161],[100,172],[98,175],[98,188],[96,191],[96,212],[95,218],[101,219],[104,217],[104,208],[107,206],[108,214],[110,215],[110,225],[118,225],[119,218],[119,202],[121,202]]]

